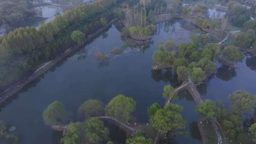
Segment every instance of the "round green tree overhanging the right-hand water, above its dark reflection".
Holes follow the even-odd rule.
[[[245,55],[240,52],[239,47],[234,45],[225,47],[223,55],[228,61],[235,63],[240,62],[245,57]]]

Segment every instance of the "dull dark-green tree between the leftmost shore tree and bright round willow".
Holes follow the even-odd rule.
[[[85,120],[88,117],[99,117],[105,114],[105,105],[95,99],[89,99],[85,101],[78,109],[78,116],[81,120]]]

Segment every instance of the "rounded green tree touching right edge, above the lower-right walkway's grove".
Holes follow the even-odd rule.
[[[256,96],[247,91],[235,91],[229,95],[232,102],[232,110],[241,114],[243,111],[251,111],[256,106]]]

